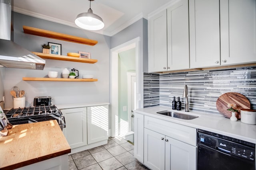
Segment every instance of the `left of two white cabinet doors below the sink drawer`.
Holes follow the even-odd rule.
[[[144,128],[144,164],[152,170],[164,170],[164,135]]]

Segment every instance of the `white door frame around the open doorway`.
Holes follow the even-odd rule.
[[[110,49],[110,136],[118,136],[118,53],[135,48],[136,106],[143,107],[143,56],[140,56],[140,37]],[[142,89],[141,89],[142,88]],[[142,99],[142,101],[141,101]]]

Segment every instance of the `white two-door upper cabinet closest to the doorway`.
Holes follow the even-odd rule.
[[[189,68],[188,0],[148,20],[148,71]]]

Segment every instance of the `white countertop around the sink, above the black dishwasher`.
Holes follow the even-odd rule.
[[[184,120],[166,115],[161,115],[156,112],[170,110],[178,113],[185,113],[190,115],[199,116],[196,119]],[[184,109],[181,111],[172,110],[170,107],[154,106],[142,109],[136,109],[135,113],[141,113],[158,119],[178,123],[197,129],[203,129],[206,131],[218,133],[220,135],[226,135],[243,141],[256,144],[256,125],[249,125],[238,121],[230,121],[230,119],[222,115],[214,115],[209,113],[200,113],[196,111],[185,112]]]

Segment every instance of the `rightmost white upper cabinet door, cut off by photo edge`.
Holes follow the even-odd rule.
[[[222,65],[256,61],[255,30],[255,0],[220,0]]]

